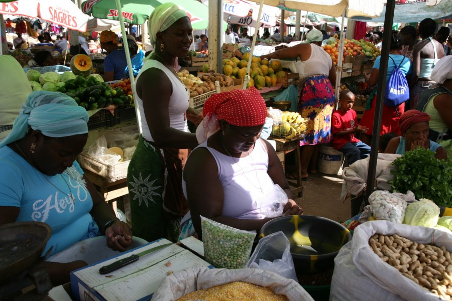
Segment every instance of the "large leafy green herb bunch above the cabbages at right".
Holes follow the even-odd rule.
[[[394,160],[397,167],[388,181],[393,192],[411,190],[416,199],[429,199],[438,206],[452,207],[452,163],[437,160],[434,153],[418,147]]]

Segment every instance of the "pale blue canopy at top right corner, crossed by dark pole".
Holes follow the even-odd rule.
[[[394,23],[420,22],[425,18],[440,19],[452,14],[451,0],[399,0],[394,9]],[[384,22],[386,5],[381,16],[372,18],[372,22]],[[370,21],[368,18],[353,17],[357,21]]]

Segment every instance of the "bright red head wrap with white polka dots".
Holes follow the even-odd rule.
[[[262,125],[267,118],[265,100],[255,87],[213,94],[202,113],[204,117],[216,114],[217,120],[237,126]]]

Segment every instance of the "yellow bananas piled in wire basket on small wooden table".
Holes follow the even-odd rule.
[[[298,112],[283,111],[278,118],[273,119],[272,135],[284,137],[286,140],[299,139],[306,132],[308,119],[301,117]]]

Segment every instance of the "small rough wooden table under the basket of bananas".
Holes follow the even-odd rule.
[[[297,182],[293,183],[291,181],[289,182],[289,185],[294,187],[292,192],[298,197],[303,196],[303,185],[301,184],[301,157],[300,157],[300,140],[291,140],[288,141],[284,138],[276,138],[270,136],[269,139],[275,140],[276,142],[276,153],[278,154],[278,157],[281,160],[281,163],[283,165],[283,169],[285,170],[285,161],[286,161],[286,154],[292,152],[295,150],[295,164],[296,164],[296,173],[297,173]]]

